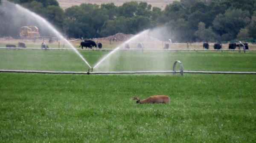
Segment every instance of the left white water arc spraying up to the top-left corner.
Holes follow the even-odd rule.
[[[41,16],[39,16],[38,14],[35,14],[32,11],[29,11],[26,8],[23,8],[22,6],[18,5],[18,4],[13,4],[10,3],[9,1],[6,0],[2,0],[2,3],[5,4],[10,4],[10,5],[15,5],[15,8],[17,8],[17,11],[20,11],[20,14],[24,14],[24,15],[29,15],[30,17],[33,17],[34,20],[36,20],[36,22],[38,22],[38,24],[43,24],[44,26],[47,26],[47,28],[49,28],[49,30],[51,30],[56,36],[58,36],[59,38],[63,39],[64,42],[66,42],[74,51],[77,55],[79,55],[79,57],[90,67],[90,64],[84,59],[84,57],[78,52],[78,50],[76,50],[76,48],[74,48],[74,46],[67,40],[65,39],[60,32],[58,32],[56,30],[56,28],[54,28],[49,22],[47,22],[47,20],[45,20],[44,18],[42,18]]]

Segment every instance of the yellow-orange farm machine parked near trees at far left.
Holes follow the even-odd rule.
[[[40,36],[40,34],[36,26],[23,26],[20,28],[20,36],[33,38]]]

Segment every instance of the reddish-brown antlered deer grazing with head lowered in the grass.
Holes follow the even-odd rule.
[[[163,103],[163,104],[169,104],[170,103],[170,98],[169,96],[166,95],[154,95],[154,96],[149,96],[145,100],[140,100],[138,96],[134,96],[131,98],[132,100],[137,100],[136,103],[140,104],[148,104],[148,103]]]

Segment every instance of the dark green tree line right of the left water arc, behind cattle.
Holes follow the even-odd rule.
[[[158,38],[174,42],[256,39],[255,0],[180,0],[163,10],[137,1],[122,6],[82,3],[65,10],[56,0],[10,1],[41,15],[73,38],[137,34],[159,27],[164,36]],[[4,31],[0,34],[7,36]]]

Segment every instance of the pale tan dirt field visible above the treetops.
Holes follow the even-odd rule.
[[[125,2],[137,1],[140,3],[141,1],[151,4],[152,7],[156,6],[161,9],[164,9],[166,5],[169,5],[173,1],[179,0],[57,0],[60,7],[63,9],[69,8],[71,6],[79,6],[81,3],[96,3],[100,5],[101,3],[114,3],[116,6],[121,6]]]

